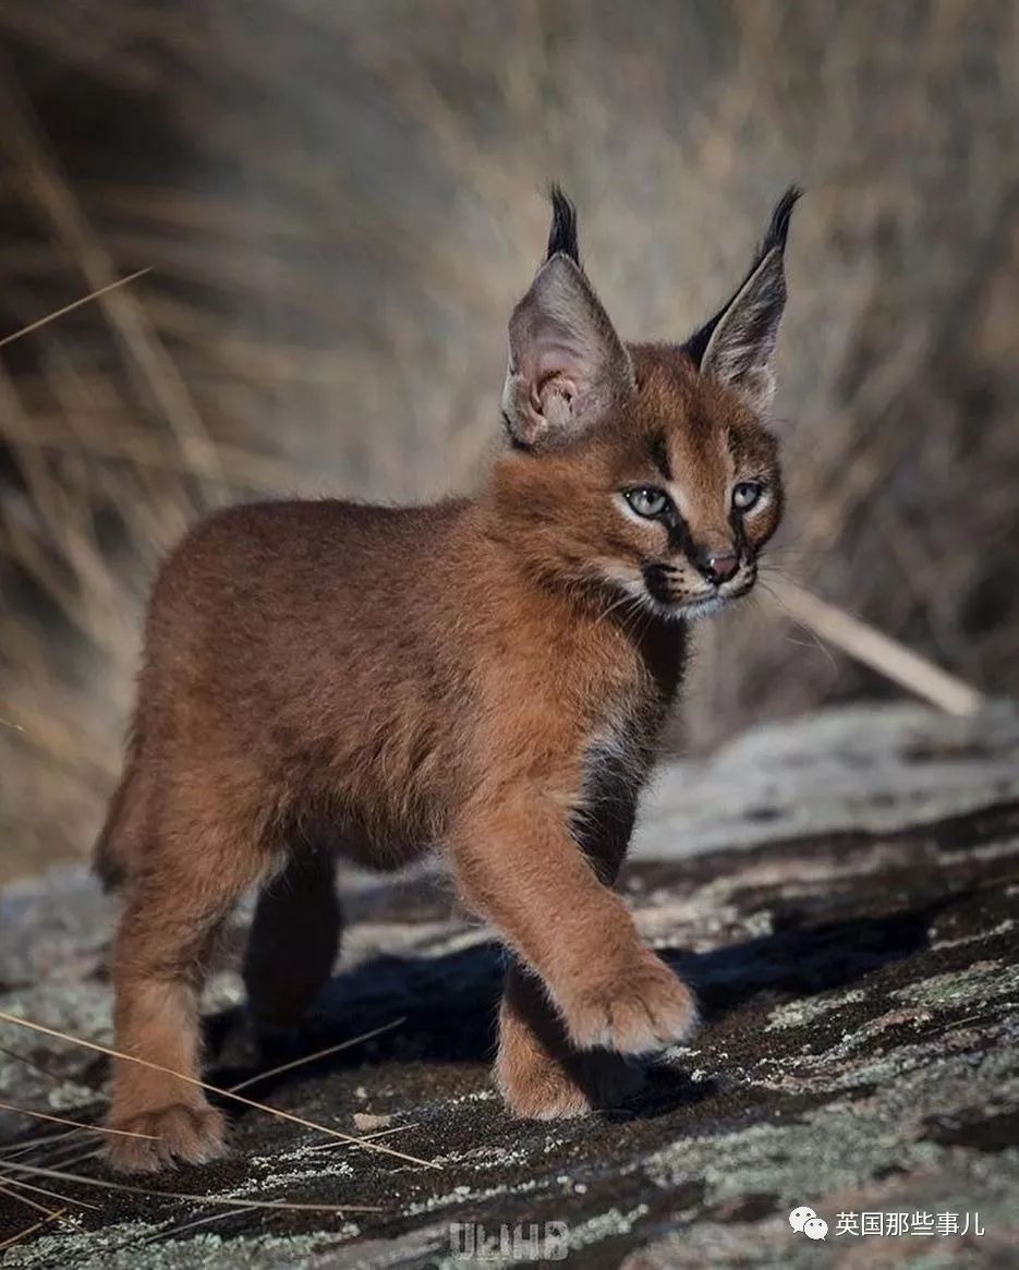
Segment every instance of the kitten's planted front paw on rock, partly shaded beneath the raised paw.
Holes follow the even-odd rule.
[[[556,1059],[510,1060],[501,1053],[495,1082],[511,1115],[522,1120],[567,1120],[626,1102],[643,1086],[643,1072],[618,1054],[576,1054],[572,1072]]]

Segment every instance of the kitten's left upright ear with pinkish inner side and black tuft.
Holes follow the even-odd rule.
[[[552,450],[626,400],[633,367],[580,267],[576,213],[552,190],[548,257],[509,324],[503,419],[520,450]]]

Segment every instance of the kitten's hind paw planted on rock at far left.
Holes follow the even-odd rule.
[[[226,1154],[223,1116],[211,1106],[185,1106],[175,1102],[157,1111],[109,1119],[107,1160],[118,1172],[156,1173],[173,1168],[176,1161],[207,1165]],[[129,1138],[124,1132],[147,1134]]]

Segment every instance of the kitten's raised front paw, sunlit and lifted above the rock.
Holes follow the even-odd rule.
[[[697,1026],[697,1001],[654,952],[567,996],[558,1005],[577,1049],[650,1054],[685,1040]]]

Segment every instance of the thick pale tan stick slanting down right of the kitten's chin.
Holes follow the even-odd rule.
[[[794,621],[947,714],[970,716],[983,705],[985,697],[976,688],[859,617],[851,617],[792,582],[775,578],[769,587]]]

